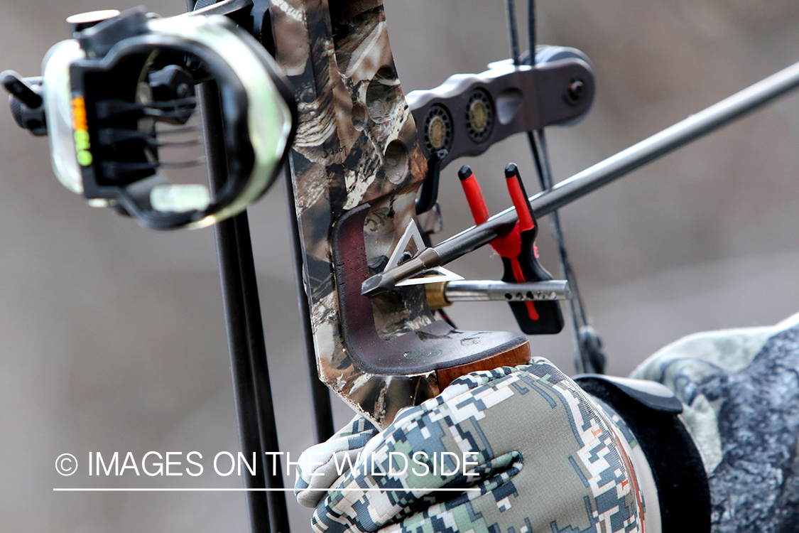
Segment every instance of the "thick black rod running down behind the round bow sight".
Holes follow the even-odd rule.
[[[218,190],[228,170],[217,87],[206,82],[198,95],[209,183]],[[273,469],[264,455],[278,451],[278,441],[247,213],[221,221],[215,232],[240,447],[245,457],[256,456],[256,474],[244,475],[244,486],[256,489],[246,493],[250,526],[252,533],[288,533],[285,493],[258,491],[284,483],[280,462]]]

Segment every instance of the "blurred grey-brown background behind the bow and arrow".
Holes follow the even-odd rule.
[[[438,86],[507,58],[500,0],[386,0],[403,89]],[[790,0],[544,0],[539,42],[583,50],[597,71],[582,124],[548,130],[562,180],[722,97],[799,61],[799,3]],[[64,19],[134,6],[120,0],[0,2],[0,69],[38,75],[68,38]],[[180,0],[147,7],[179,14]],[[523,20],[524,2],[519,7]],[[522,42],[526,36],[522,28]],[[562,211],[574,268],[609,371],[626,375],[672,340],[711,328],[773,324],[799,311],[799,97],[781,99]],[[492,212],[515,161],[535,190],[527,141],[468,161]],[[448,237],[469,223],[443,176]],[[312,444],[308,385],[283,191],[250,210],[276,396],[280,450]],[[543,262],[557,270],[547,223]],[[451,268],[497,277],[487,249]],[[59,185],[45,137],[0,105],[0,530],[247,531],[240,493],[54,493],[54,487],[240,487],[220,478],[89,477],[89,451],[237,451],[213,229],[157,233],[89,209]],[[450,308],[463,328],[513,324],[505,304]],[[515,324],[514,324],[515,325]],[[573,372],[571,333],[531,340]],[[337,399],[336,425],[352,413]],[[55,458],[78,457],[62,478]],[[204,484],[205,483],[205,484]],[[292,483],[292,480],[288,480]],[[310,511],[289,498],[294,531]]]

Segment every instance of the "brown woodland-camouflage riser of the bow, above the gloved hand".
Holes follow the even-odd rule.
[[[360,368],[364,365],[359,366],[348,332],[365,326],[348,320],[345,329],[340,305],[343,297],[361,297],[360,291],[347,296],[355,294],[353,289],[344,292],[336,281],[332,234],[346,213],[368,205],[358,247],[364,249],[370,275],[380,272],[407,226],[415,223],[415,193],[427,162],[397,79],[380,0],[273,0],[270,15],[276,60],[295,88],[299,110],[290,162],[319,376],[384,427],[400,408],[438,394],[438,384],[429,370],[404,376]],[[378,341],[435,325],[420,286],[377,297],[369,305],[372,316],[364,323]],[[439,330],[433,336],[453,342]],[[463,344],[461,354],[471,351],[479,358],[481,350],[491,349],[484,337],[483,332],[457,335],[457,342],[471,343]]]

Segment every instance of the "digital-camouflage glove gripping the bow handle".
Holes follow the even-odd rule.
[[[370,440],[316,508],[312,527],[317,533],[642,531],[638,479],[619,449],[601,409],[549,361],[474,372],[403,410]],[[448,452],[443,472],[442,452]],[[476,466],[465,472],[455,464],[463,452],[477,452],[467,455]],[[304,471],[297,488],[314,483],[311,474]]]

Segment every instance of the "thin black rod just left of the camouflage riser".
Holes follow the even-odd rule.
[[[333,425],[333,408],[330,404],[330,390],[328,386],[319,379],[319,372],[316,369],[316,348],[313,344],[313,328],[311,324],[311,307],[308,303],[308,295],[305,293],[303,283],[303,257],[302,244],[300,242],[300,226],[297,224],[296,201],[294,199],[294,189],[292,187],[292,171],[288,161],[283,167],[285,177],[286,197],[288,200],[288,225],[292,229],[292,252],[294,253],[294,264],[297,265],[294,275],[296,283],[297,305],[300,308],[300,323],[302,324],[303,340],[305,341],[305,356],[308,361],[308,382],[311,385],[311,402],[314,420],[314,436],[316,442],[323,442],[332,437],[336,432]]]

